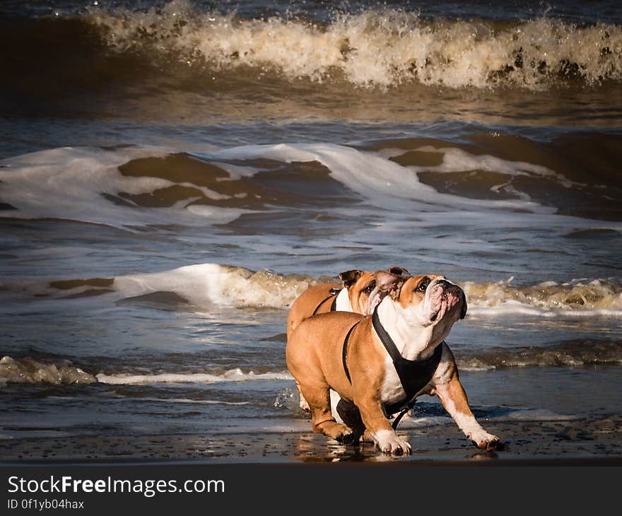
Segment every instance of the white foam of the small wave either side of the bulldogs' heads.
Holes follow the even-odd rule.
[[[472,315],[618,316],[622,315],[622,285],[614,280],[572,281],[512,286],[507,281],[462,284]],[[173,291],[196,305],[288,308],[319,280],[253,272],[242,267],[196,264],[157,274],[121,276],[114,288],[124,296]]]

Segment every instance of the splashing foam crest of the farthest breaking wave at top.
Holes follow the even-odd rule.
[[[586,83],[622,77],[622,28],[551,18],[507,25],[430,22],[417,13],[385,8],[344,13],[319,25],[278,17],[242,20],[177,0],[147,12],[98,9],[90,21],[117,52],[139,49],[152,59],[176,54],[189,66],[247,67],[259,76],[276,72],[291,80],[345,78],[356,87],[418,82],[534,89],[568,76]]]

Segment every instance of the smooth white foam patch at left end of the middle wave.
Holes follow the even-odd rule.
[[[127,228],[132,225],[225,223],[244,210],[190,206],[194,199],[184,199],[170,207],[144,209],[105,198],[126,194],[151,194],[172,186],[193,187],[209,199],[221,194],[187,182],[175,183],[158,177],[127,177],[119,166],[139,158],[161,158],[175,152],[163,147],[126,147],[107,150],[96,147],[64,147],[39,151],[1,160],[2,201],[16,211],[0,216],[18,218],[62,218]]]

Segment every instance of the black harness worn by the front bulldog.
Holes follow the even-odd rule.
[[[359,321],[360,322],[360,321]],[[352,383],[350,378],[350,371],[348,370],[348,364],[346,363],[346,355],[348,352],[348,340],[350,339],[350,335],[352,334],[353,329],[356,327],[354,324],[351,327],[348,334],[346,334],[346,338],[344,339],[344,348],[341,353],[341,359],[344,363],[344,371],[346,373],[346,377],[348,381]],[[378,309],[377,307],[374,310],[372,315],[372,324],[376,333],[380,337],[380,341],[382,345],[385,346],[387,353],[391,357],[393,361],[393,366],[399,377],[399,382],[401,383],[401,387],[404,389],[404,398],[393,404],[385,404],[384,409],[387,415],[395,414],[401,410],[401,413],[395,419],[393,423],[393,428],[397,428],[399,421],[402,416],[406,414],[407,411],[412,409],[416,402],[415,395],[428,385],[428,382],[432,380],[435,370],[438,368],[438,364],[440,363],[440,357],[442,356],[442,344],[436,346],[434,353],[429,358],[425,360],[407,360],[401,353],[397,346],[395,345],[391,336],[387,333],[382,324],[380,323],[380,318],[378,317]]]

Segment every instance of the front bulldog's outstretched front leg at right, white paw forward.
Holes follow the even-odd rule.
[[[435,385],[433,394],[438,396],[442,406],[454,418],[467,439],[473,441],[477,447],[483,450],[495,450],[499,438],[486,432],[477,422],[469,407],[467,394],[458,379],[457,371],[454,371],[448,382]]]

